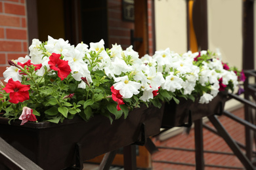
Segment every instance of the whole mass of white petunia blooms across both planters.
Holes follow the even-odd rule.
[[[43,76],[45,68],[49,67],[49,58],[44,57],[43,51],[39,50],[42,44],[38,39],[33,39],[30,46],[30,56],[18,58],[16,62],[24,63],[31,59],[31,63],[41,63],[43,67],[37,71],[37,75]],[[237,76],[233,71],[223,69],[223,64],[219,59],[211,62],[203,61],[202,66],[194,65],[193,61],[198,52],[186,52],[182,55],[166,50],[156,51],[154,56],[145,55],[139,58],[139,54],[132,49],[132,46],[123,50],[120,45],[114,44],[110,50],[104,48],[104,41],[91,42],[87,44],[79,43],[77,46],[71,45],[64,39],[53,39],[49,36],[45,48],[49,54],[62,54],[63,59],[68,61],[73,78],[79,81],[79,88],[86,88],[85,82],[81,81],[86,77],[88,82],[93,82],[90,66],[90,52],[99,53],[98,62],[92,71],[104,71],[108,78],[114,80],[114,88],[119,90],[122,97],[131,98],[142,92],[140,99],[149,101],[153,99],[153,92],[160,87],[167,92],[179,92],[183,95],[190,95],[194,92],[197,84],[208,86],[210,93],[204,93],[200,98],[200,103],[209,103],[219,92],[219,79],[223,78],[223,84],[228,85],[230,81],[234,86],[238,85]],[[205,54],[206,51],[202,51]],[[85,59],[85,56],[89,59]],[[21,82],[22,75],[14,66],[8,67],[3,73],[5,82],[9,78]]]

